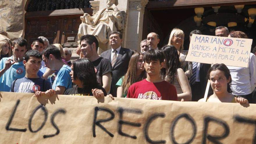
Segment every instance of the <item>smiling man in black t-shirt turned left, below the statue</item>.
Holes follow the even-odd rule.
[[[83,57],[88,58],[95,67],[98,83],[109,93],[111,88],[112,67],[109,59],[98,55],[98,40],[94,35],[83,35],[80,38],[80,45]]]

